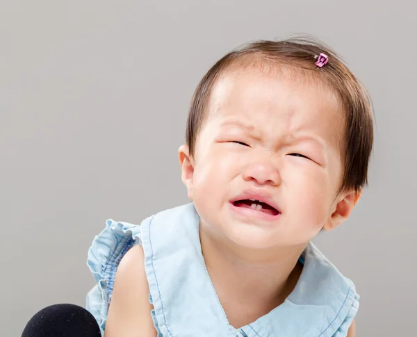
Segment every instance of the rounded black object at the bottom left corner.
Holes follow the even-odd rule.
[[[22,337],[101,337],[94,316],[74,304],[54,304],[36,313]]]

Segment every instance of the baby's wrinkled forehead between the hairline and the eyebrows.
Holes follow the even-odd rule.
[[[338,96],[325,83],[294,71],[227,72],[213,86],[208,111],[212,126],[237,120],[270,137],[314,133],[338,144],[343,134]]]

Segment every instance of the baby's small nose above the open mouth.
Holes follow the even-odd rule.
[[[259,185],[278,186],[281,183],[281,176],[277,167],[268,161],[257,161],[245,167],[243,171],[245,181],[254,181]]]

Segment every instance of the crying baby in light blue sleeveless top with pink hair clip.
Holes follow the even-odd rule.
[[[87,297],[106,337],[355,336],[359,295],[311,243],[367,183],[373,111],[329,47],[259,41],[197,86],[179,148],[190,204],[108,220]]]

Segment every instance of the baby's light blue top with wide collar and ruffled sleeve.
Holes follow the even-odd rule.
[[[149,301],[158,337],[345,337],[359,295],[310,243],[300,260],[300,280],[286,301],[240,329],[229,324],[208,276],[193,204],[157,213],[138,225],[108,220],[95,238],[88,265],[95,286],[87,309],[104,331],[115,271],[122,256],[140,244],[145,253]]]

